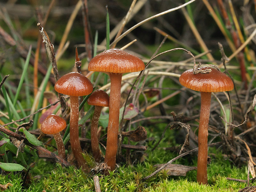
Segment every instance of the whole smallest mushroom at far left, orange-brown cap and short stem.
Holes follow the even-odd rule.
[[[59,132],[64,130],[64,128],[66,128],[66,121],[55,114],[48,115],[40,128],[42,133],[53,135],[57,145],[58,155],[62,159],[65,159],[66,154],[62,137]]]

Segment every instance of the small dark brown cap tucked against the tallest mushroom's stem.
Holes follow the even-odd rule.
[[[92,92],[87,103],[89,105],[109,107],[109,95],[103,90],[96,90]]]

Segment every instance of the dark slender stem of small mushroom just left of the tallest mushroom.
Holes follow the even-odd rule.
[[[101,152],[99,147],[99,140],[98,140],[98,122],[100,119],[102,107],[95,106],[94,114],[92,116],[92,124],[91,124],[91,146],[92,146],[92,155],[96,162],[100,162],[101,159]]]

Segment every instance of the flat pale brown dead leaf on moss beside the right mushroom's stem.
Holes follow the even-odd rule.
[[[159,169],[163,165],[164,164],[156,164],[154,166],[156,166],[156,168]],[[169,164],[163,170],[167,171],[168,175],[186,176],[188,171],[192,171],[195,169],[197,169],[197,167],[185,166],[180,164]]]

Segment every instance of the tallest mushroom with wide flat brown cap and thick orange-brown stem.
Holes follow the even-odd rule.
[[[122,75],[123,73],[142,71],[144,69],[145,64],[139,57],[120,49],[106,50],[93,57],[88,64],[89,71],[107,73],[110,77],[109,123],[104,162],[110,166],[111,171],[116,166]]]

